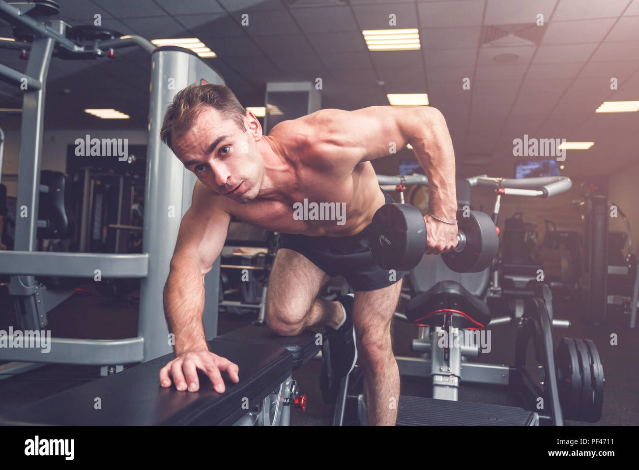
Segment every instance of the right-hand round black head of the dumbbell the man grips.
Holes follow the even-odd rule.
[[[463,251],[442,254],[442,260],[455,272],[481,272],[490,266],[499,248],[499,237],[493,220],[485,212],[471,210],[470,214],[457,211],[458,230],[466,235]]]

